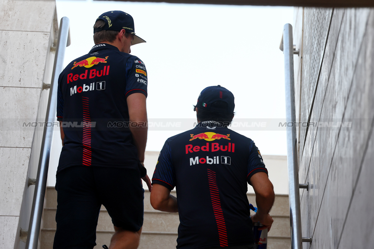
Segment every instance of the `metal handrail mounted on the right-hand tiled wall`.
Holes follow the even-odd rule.
[[[284,53],[285,87],[286,87],[286,122],[296,124],[295,109],[295,78],[294,78],[294,54],[296,46],[293,44],[292,25],[285,24],[280,49]],[[302,242],[312,243],[312,237],[301,236],[300,214],[300,188],[306,188],[307,184],[299,184],[296,125],[287,125],[287,165],[288,165],[288,189],[289,189],[289,222],[291,226],[291,248],[301,249]]]

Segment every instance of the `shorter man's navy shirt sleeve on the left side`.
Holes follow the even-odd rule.
[[[169,190],[175,187],[175,170],[171,161],[171,146],[166,140],[159,155],[154,169],[152,184],[157,183],[167,187]]]

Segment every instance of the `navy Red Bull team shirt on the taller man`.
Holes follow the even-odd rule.
[[[144,63],[110,44],[96,44],[69,63],[58,79],[65,138],[57,172],[74,165],[137,168],[126,98],[147,97],[147,82]]]

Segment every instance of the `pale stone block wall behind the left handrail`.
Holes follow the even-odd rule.
[[[0,249],[24,248],[57,38],[55,0],[0,0]]]

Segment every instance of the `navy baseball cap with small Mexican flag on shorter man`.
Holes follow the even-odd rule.
[[[212,103],[216,101],[226,102],[227,108],[212,107]],[[206,87],[201,91],[196,107],[211,112],[233,113],[235,108],[234,94],[220,85]]]

